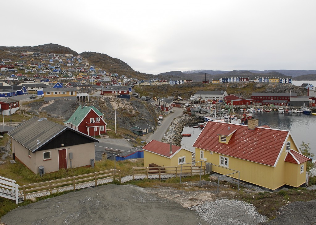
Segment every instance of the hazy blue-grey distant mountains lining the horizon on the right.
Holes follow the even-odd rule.
[[[244,71],[244,70],[239,70]],[[253,73],[270,73],[270,72],[279,72],[281,74],[284,74],[286,76],[291,77],[297,77],[301,75],[307,75],[307,74],[316,74],[316,70],[248,70],[249,72]],[[209,73],[211,75],[217,75],[217,74],[226,74],[229,71],[223,71],[223,70],[190,70],[190,71],[184,71],[183,73],[199,73],[199,72],[205,72]]]

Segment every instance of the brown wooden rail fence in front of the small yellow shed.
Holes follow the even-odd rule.
[[[164,166],[164,167],[133,167],[133,180],[137,175],[146,175],[148,179],[149,175],[159,175],[159,180],[161,180],[161,175],[175,174],[179,176],[180,174],[190,174],[190,176],[195,174],[203,173],[205,175],[205,165],[201,167],[196,166]]]

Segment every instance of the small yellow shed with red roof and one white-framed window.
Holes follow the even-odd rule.
[[[192,152],[189,149],[152,140],[143,147],[144,166],[180,166],[192,162]]]

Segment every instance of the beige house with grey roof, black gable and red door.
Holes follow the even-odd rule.
[[[45,173],[94,164],[94,142],[99,140],[46,119],[46,111],[21,124],[8,135],[15,159],[33,173]]]

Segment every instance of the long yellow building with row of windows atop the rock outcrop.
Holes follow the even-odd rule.
[[[59,98],[77,100],[76,88],[43,88],[44,101],[51,101]]]

